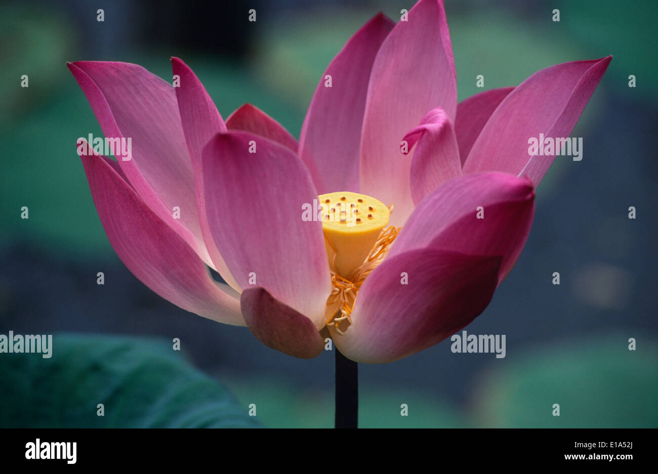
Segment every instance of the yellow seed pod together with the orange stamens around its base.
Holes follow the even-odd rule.
[[[384,260],[400,227],[386,227],[393,204],[384,206],[367,195],[329,193],[320,195],[318,201],[322,206],[324,247],[332,275],[327,325],[333,325],[342,335],[351,324],[352,308],[361,285]]]

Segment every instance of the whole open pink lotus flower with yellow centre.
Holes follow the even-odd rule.
[[[315,357],[330,335],[347,358],[382,363],[486,308],[555,158],[530,156],[528,138],[567,137],[610,60],[557,64],[457,104],[443,3],[420,0],[407,21],[378,14],[347,41],[299,143],[252,105],[224,121],[180,59],[178,87],[135,64],[68,67],[105,136],[132,138],[131,160],[82,162],[139,280],[286,354]]]

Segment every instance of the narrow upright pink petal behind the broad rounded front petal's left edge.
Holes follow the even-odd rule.
[[[180,84],[176,89],[176,99],[185,141],[190,153],[192,172],[195,183],[195,199],[199,216],[199,227],[203,243],[210,255],[215,270],[232,288],[240,291],[233,275],[228,271],[224,258],[215,246],[206,216],[203,193],[203,175],[201,174],[201,150],[217,133],[226,131],[224,120],[219,114],[213,99],[208,95],[199,78],[190,67],[178,58],[171,59],[174,77],[178,76]]]

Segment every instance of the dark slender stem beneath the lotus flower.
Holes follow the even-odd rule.
[[[336,351],[336,428],[359,425],[359,366]]]

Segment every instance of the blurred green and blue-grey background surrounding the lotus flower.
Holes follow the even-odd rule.
[[[559,62],[610,54],[613,61],[572,133],[584,137],[584,160],[555,160],[538,189],[535,222],[515,270],[467,327],[468,333],[507,335],[507,357],[452,354],[444,341],[393,364],[361,366],[360,425],[656,427],[658,279],[651,237],[657,230],[658,3],[445,4],[460,100],[482,91],[478,74],[491,89],[518,85]],[[0,427],[93,426],[95,400],[109,396],[93,387],[118,383],[113,377],[124,366],[101,371],[105,375],[93,387],[76,383],[77,376],[44,374],[75,369],[80,377],[97,376],[97,366],[73,367],[86,360],[85,351],[92,358],[94,346],[116,341],[139,347],[135,337],[161,337],[164,343],[145,345],[151,356],[165,358],[172,356],[168,341],[180,338],[183,351],[174,354],[181,354],[175,357],[186,368],[176,367],[209,387],[222,383],[217,397],[226,390],[231,410],[246,414],[256,404],[255,425],[332,426],[332,353],[301,361],[274,352],[245,328],[203,320],[161,300],[118,260],[75,153],[78,137],[102,135],[101,130],[65,62],[135,62],[169,80],[169,58],[181,57],[224,118],[253,103],[299,137],[316,84],[345,41],[376,12],[397,21],[400,10],[412,5],[250,1],[197,7],[164,1],[154,8],[128,0],[101,7],[84,1],[0,5],[0,333],[55,333],[56,344],[62,341],[78,354],[67,356],[55,346],[52,360],[39,358],[30,366],[18,354],[0,354],[5,396]],[[105,9],[104,22],[96,21],[97,8]],[[251,8],[257,22],[247,22]],[[551,20],[553,9],[560,11],[559,22]],[[20,87],[22,74],[29,87]],[[628,87],[630,74],[635,88]],[[30,210],[28,220],[20,218],[22,206]],[[636,220],[627,218],[628,206],[638,209]],[[102,287],[95,283],[99,271],[105,272]],[[560,286],[551,284],[553,272],[561,273]],[[638,341],[636,351],[628,350],[630,337]],[[138,349],[126,350],[128,359],[144,357]],[[14,386],[30,377],[31,385]],[[149,385],[154,382],[143,373],[124,383],[132,384],[129,393],[164,391]],[[64,390],[66,396],[58,408],[27,410],[46,403],[35,398],[35,387]],[[78,403],[68,406],[66,400]],[[551,415],[553,403],[560,404],[560,417]],[[401,404],[409,406],[409,416],[400,416]],[[180,410],[193,406],[188,400]],[[66,415],[53,419],[53,410]],[[163,415],[155,423],[124,411],[107,425],[250,423],[210,418],[213,422],[192,417],[186,424]]]

